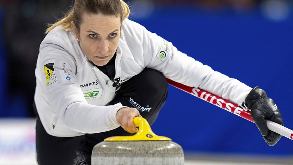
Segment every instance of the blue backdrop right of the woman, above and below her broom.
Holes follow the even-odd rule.
[[[292,13],[285,21],[272,21],[259,9],[208,13],[160,8],[134,21],[214,70],[260,86],[276,102],[285,126],[293,128]],[[270,147],[252,122],[170,85],[168,90],[152,129],[185,151],[292,156],[292,140],[282,137]]]

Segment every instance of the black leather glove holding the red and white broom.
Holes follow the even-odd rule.
[[[245,99],[245,105],[251,110],[251,117],[269,146],[274,146],[282,137],[268,129],[266,119],[284,126],[282,115],[275,102],[267,97],[264,90],[254,87]]]

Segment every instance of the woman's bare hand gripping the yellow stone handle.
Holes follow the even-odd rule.
[[[137,133],[138,129],[133,123],[134,117],[142,117],[136,108],[124,107],[117,111],[116,120],[121,127],[129,133]]]

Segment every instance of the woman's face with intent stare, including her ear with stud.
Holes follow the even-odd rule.
[[[73,22],[71,27],[86,57],[98,66],[106,65],[118,46],[120,18],[84,13],[79,33]]]

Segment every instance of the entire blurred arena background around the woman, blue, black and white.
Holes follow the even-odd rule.
[[[130,18],[178,50],[263,88],[293,129],[293,1],[132,0]],[[71,0],[0,1],[0,165],[35,163],[34,69],[46,23]],[[152,129],[185,151],[186,164],[293,164],[293,142],[268,146],[255,124],[169,86]],[[147,91],[141,91],[142,93]]]

